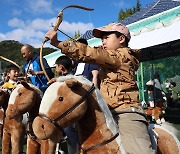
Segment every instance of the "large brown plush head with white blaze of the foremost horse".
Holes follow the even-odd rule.
[[[87,91],[88,86],[76,79],[51,84],[42,98],[39,116],[33,121],[35,135],[48,139],[80,119],[87,109]]]

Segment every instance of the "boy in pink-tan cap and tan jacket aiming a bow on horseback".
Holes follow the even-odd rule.
[[[101,38],[102,47],[91,48],[75,41],[58,41],[52,29],[46,37],[62,53],[74,60],[101,67],[100,91],[119,126],[124,149],[131,154],[155,153],[148,134],[148,122],[138,100],[135,71],[139,50],[128,48],[130,32],[121,23],[95,28],[93,35]]]

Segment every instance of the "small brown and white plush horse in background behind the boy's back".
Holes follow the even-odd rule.
[[[158,100],[155,107],[148,107],[145,109],[146,115],[149,119],[155,120],[157,124],[165,122],[163,114],[165,113],[166,102],[165,100]]]

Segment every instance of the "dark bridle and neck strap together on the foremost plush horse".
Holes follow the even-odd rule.
[[[56,128],[58,128],[59,130],[63,131],[63,128],[62,126],[60,126],[57,121],[60,121],[61,119],[63,119],[65,116],[67,116],[69,113],[71,113],[75,108],[77,108],[82,102],[84,99],[87,99],[88,95],[91,94],[93,91],[94,91],[95,87],[94,87],[94,84],[89,88],[89,90],[86,92],[85,95],[83,95],[83,97],[81,97],[72,107],[70,107],[68,110],[66,110],[66,112],[64,112],[62,115],[60,115],[59,117],[57,117],[56,119],[52,120],[51,118],[43,115],[43,114],[39,114],[39,117],[44,119],[44,120],[47,120],[49,121],[50,123],[52,123]],[[113,141],[114,139],[116,139],[116,137],[119,136],[119,133],[116,133],[113,137],[111,137],[110,139],[108,140],[105,140],[101,143],[98,143],[94,146],[91,146],[89,148],[82,148],[80,147],[80,149],[83,151],[83,154],[86,154],[88,151],[92,151],[94,149],[97,149],[101,146],[104,146],[108,143],[110,143],[111,141]]]

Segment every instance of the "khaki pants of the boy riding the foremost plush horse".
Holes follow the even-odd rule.
[[[148,123],[142,114],[116,113],[113,117],[119,126],[123,147],[127,154],[155,153],[148,134]]]

